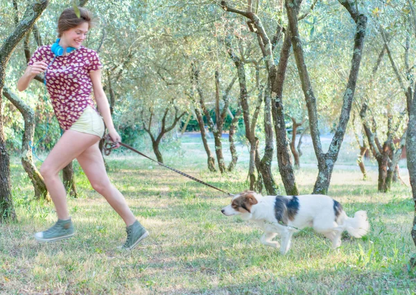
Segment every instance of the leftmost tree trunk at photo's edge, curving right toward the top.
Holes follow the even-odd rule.
[[[39,0],[28,6],[19,24],[3,42],[0,48],[0,93],[3,93],[6,66],[12,52],[24,35],[33,28],[33,24],[48,6],[48,0]],[[10,184],[10,159],[6,149],[6,139],[3,131],[3,108],[0,95],[0,221],[15,220],[16,213],[12,202]]]

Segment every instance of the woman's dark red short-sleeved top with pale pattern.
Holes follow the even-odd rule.
[[[96,109],[92,101],[92,80],[89,72],[103,66],[98,53],[80,46],[75,51],[55,58],[51,45],[40,46],[33,53],[28,66],[44,61],[49,64],[46,71],[46,88],[62,129],[67,130],[88,105]]]

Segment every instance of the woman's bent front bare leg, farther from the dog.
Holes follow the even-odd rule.
[[[98,136],[92,134],[67,130],[42,163],[40,174],[44,177],[46,188],[55,204],[60,220],[69,219],[69,213],[67,192],[60,180],[59,172],[99,139]]]

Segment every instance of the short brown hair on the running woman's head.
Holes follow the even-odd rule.
[[[64,31],[75,28],[85,22],[88,23],[88,29],[94,26],[95,22],[92,13],[82,7],[79,7],[78,9],[80,10],[80,18],[76,16],[73,8],[67,8],[62,11],[58,19],[58,37],[61,37]]]

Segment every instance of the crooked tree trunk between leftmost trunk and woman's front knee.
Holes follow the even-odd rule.
[[[35,133],[35,112],[31,107],[26,105],[15,93],[12,93],[7,87],[3,88],[3,95],[12,102],[24,118],[24,134],[21,141],[20,160],[21,165],[26,171],[29,179],[33,184],[35,199],[45,199],[47,202],[51,201],[48,190],[44,183],[44,179],[33,163],[33,155],[31,149],[31,142],[33,142],[33,134]]]

